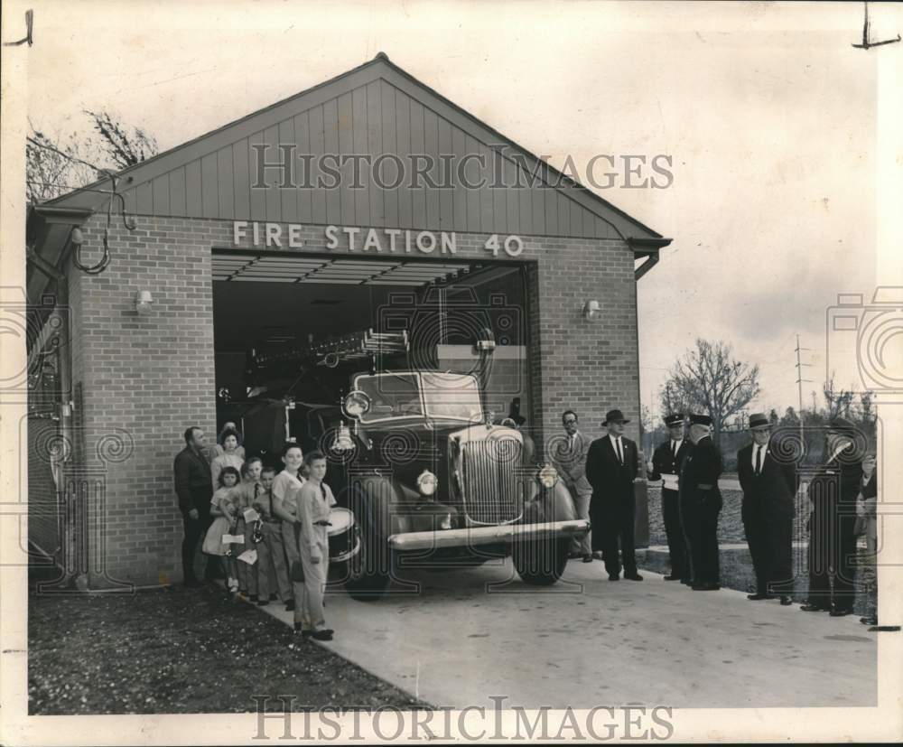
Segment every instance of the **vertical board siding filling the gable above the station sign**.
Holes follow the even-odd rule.
[[[620,238],[612,224],[632,231],[629,219],[614,211],[601,218],[573,199],[572,188],[550,187],[535,163],[512,155],[489,133],[485,139],[470,134],[461,117],[433,109],[430,100],[384,77],[348,87],[335,98],[286,111],[286,118],[265,130],[137,183],[126,192],[130,210],[567,238]],[[282,189],[279,145],[291,144],[290,182]],[[264,166],[265,186],[257,188],[253,145],[265,145],[261,157],[273,164]],[[358,163],[359,187],[354,186],[355,161],[337,160],[352,154],[369,158]],[[414,158],[424,155],[432,158],[425,170],[423,159]],[[471,155],[481,160],[463,162]],[[416,171],[423,175],[415,178]],[[335,181],[330,173],[340,174],[335,186],[330,186]],[[479,186],[470,189],[465,182]],[[397,186],[386,189],[386,183]]]

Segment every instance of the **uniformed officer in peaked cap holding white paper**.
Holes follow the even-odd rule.
[[[681,581],[689,585],[690,564],[686,556],[684,528],[680,520],[678,482],[680,466],[689,451],[684,441],[684,414],[675,413],[665,418],[668,440],[658,446],[647,464],[647,476],[652,481],[662,481],[662,518],[665,519],[665,533],[668,537],[668,555],[671,556],[671,574],[666,581]]]

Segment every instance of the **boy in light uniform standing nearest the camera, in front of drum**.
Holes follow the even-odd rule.
[[[321,452],[308,453],[304,458],[307,481],[300,490],[293,490],[288,500],[293,500],[300,532],[296,532],[298,555],[304,568],[301,589],[300,615],[295,613],[295,630],[301,630],[306,638],[332,640],[332,630],[326,627],[323,617],[323,593],[330,565],[329,532],[330,510],[336,505],[326,476],[326,457]],[[295,592],[296,603],[299,593]]]

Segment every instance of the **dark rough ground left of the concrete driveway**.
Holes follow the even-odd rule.
[[[278,603],[278,602],[271,602]],[[219,587],[29,599],[29,713],[427,707]]]

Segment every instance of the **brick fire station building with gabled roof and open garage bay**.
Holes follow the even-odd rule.
[[[32,206],[27,236],[28,539],[61,584],[180,581],[185,428],[240,427],[321,341],[396,323],[464,372],[494,342],[486,405],[536,462],[568,408],[638,437],[637,282],[670,239],[384,54]]]

